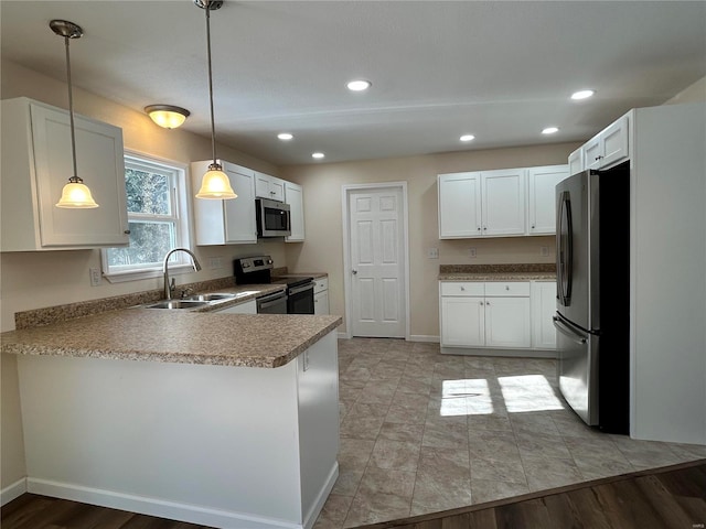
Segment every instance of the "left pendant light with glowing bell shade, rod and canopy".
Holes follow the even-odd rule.
[[[64,185],[62,190],[62,197],[56,207],[74,208],[74,209],[87,209],[92,207],[98,207],[96,201],[90,195],[90,190],[84,184],[84,181],[78,177],[78,171],[76,171],[76,132],[74,126],[74,97],[71,87],[71,56],[68,54],[68,40],[81,39],[84,34],[84,30],[79,25],[68,22],[66,20],[52,20],[49,26],[58,36],[64,37],[64,44],[66,45],[66,84],[68,85],[68,116],[71,120],[71,153],[74,162],[74,175],[68,179],[68,183]]]

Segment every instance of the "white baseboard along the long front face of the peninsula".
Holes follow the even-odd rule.
[[[245,512],[213,509],[199,505],[181,504],[33,477],[26,478],[26,492],[224,529],[233,527],[247,527],[248,529],[303,529],[301,523],[292,523],[281,519],[265,518]]]

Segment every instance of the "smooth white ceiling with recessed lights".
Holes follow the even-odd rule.
[[[73,21],[75,86],[188,108],[183,128],[210,134],[191,0],[2,0],[0,18],[2,60],[65,79],[49,21]],[[705,28],[704,1],[226,0],[211,14],[216,136],[280,165],[584,141],[706,76]],[[571,101],[582,88],[596,96]]]

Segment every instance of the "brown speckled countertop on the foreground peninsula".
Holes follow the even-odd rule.
[[[2,333],[1,350],[274,368],[291,361],[341,323],[341,316],[125,309]]]

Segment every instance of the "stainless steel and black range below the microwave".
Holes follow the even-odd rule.
[[[278,312],[267,311],[271,305],[264,306],[260,311],[260,300],[270,300],[270,296],[258,299],[258,314],[313,314],[313,288],[314,280],[302,276],[272,277],[274,268],[270,256],[244,257],[233,261],[235,282],[237,284],[285,284],[287,289],[275,301],[279,302]],[[286,310],[282,310],[285,299]],[[265,303],[268,303],[266,301]]]

